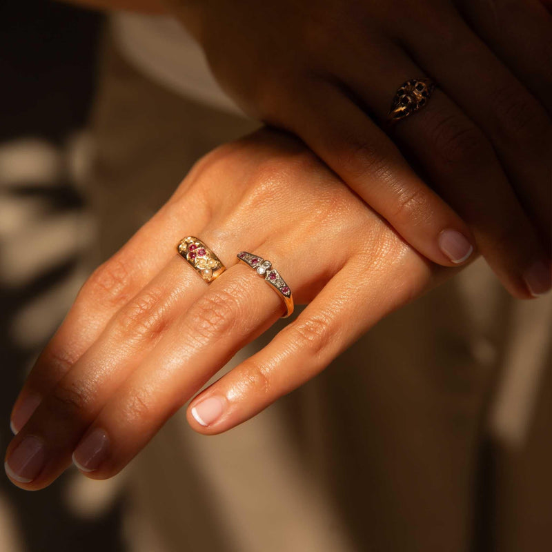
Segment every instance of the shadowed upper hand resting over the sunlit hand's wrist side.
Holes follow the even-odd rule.
[[[552,16],[539,1],[166,2],[246,112],[303,139],[428,259],[452,266],[477,244],[515,297],[550,288]],[[415,172],[380,126],[400,84],[428,75],[433,97],[392,136]]]

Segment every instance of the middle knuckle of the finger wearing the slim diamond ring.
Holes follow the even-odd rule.
[[[190,324],[196,340],[203,343],[231,331],[237,319],[237,299],[225,290],[206,293],[190,312]]]

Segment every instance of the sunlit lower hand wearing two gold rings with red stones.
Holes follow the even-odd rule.
[[[175,252],[186,235],[227,266],[213,283]],[[248,420],[455,272],[406,245],[295,139],[264,130],[223,146],[95,270],[39,357],[12,412],[19,433],[6,471],[15,484],[42,489],[75,450],[89,477],[115,475],[282,315],[281,297],[237,261],[242,250],[270,259],[308,306],[195,397],[188,422],[199,433]]]

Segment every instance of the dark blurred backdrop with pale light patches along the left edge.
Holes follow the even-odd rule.
[[[45,0],[0,3],[0,446],[26,372],[86,275],[95,229],[82,181],[103,19]],[[117,478],[68,470],[40,493],[0,477],[0,552],[124,551]]]

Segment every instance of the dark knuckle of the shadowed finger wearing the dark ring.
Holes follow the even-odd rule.
[[[457,115],[442,117],[433,126],[435,150],[444,161],[455,166],[481,166],[493,156],[485,135],[469,121]]]

